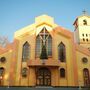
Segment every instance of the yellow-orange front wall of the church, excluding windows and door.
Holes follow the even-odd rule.
[[[82,22],[82,19],[80,22]],[[42,60],[35,57],[36,36],[43,27],[46,27],[52,36],[52,57],[45,61],[45,65],[42,64]],[[81,26],[78,29],[82,29]],[[87,29],[89,30],[89,26]],[[79,34],[82,34],[77,30],[75,32],[78,37]],[[14,39],[17,42],[13,44],[13,47],[0,54],[0,57],[6,57],[6,62],[0,63],[0,67],[5,67],[4,85],[36,86],[36,69],[40,67],[46,67],[51,71],[51,86],[84,85],[82,70],[90,66],[90,52],[83,47],[79,52],[74,42],[73,33],[58,27],[57,24],[54,24],[53,18],[46,15],[37,17],[34,24],[15,32]],[[30,44],[30,60],[22,62],[22,48],[26,41]],[[66,62],[63,63],[58,60],[58,45],[61,42],[66,47]],[[84,50],[87,52],[84,53]],[[81,62],[82,57],[88,58],[87,64]],[[21,70],[24,67],[28,69],[28,75],[25,78],[21,75]],[[60,68],[65,69],[65,78],[60,77]]]

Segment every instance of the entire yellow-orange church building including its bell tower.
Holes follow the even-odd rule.
[[[71,32],[48,15],[15,32],[0,47],[0,86],[90,85],[90,16],[76,18]]]

